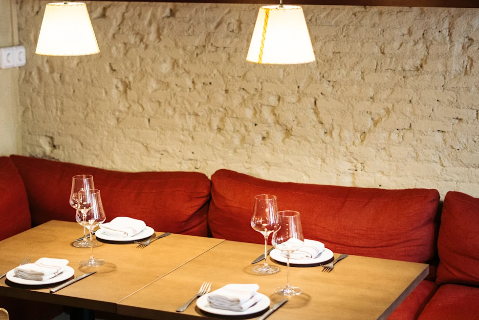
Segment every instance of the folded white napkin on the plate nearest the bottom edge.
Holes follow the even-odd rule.
[[[207,296],[213,308],[245,311],[260,300],[258,284],[227,284]]]

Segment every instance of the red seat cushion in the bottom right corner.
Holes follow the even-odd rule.
[[[419,320],[479,319],[479,288],[461,284],[441,285]]]

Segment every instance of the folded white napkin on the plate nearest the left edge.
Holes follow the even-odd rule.
[[[17,267],[15,275],[26,280],[44,281],[61,274],[68,262],[65,259],[40,258],[34,263]]]

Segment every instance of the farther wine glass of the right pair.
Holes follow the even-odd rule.
[[[280,271],[276,266],[269,266],[268,258],[268,237],[274,230],[276,224],[276,213],[278,212],[278,203],[274,195],[255,196],[255,209],[251,218],[251,226],[264,236],[264,264],[253,268],[254,272],[261,274],[272,274]]]

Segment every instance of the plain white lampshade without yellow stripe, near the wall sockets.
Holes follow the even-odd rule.
[[[46,5],[36,54],[86,56],[99,52],[85,3],[56,2]]]

